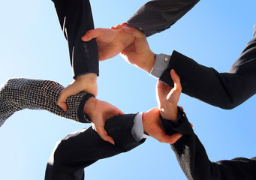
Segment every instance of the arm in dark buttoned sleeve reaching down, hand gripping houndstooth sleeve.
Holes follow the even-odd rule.
[[[62,31],[68,40],[74,82],[59,97],[58,105],[66,111],[66,99],[81,91],[97,95],[98,48],[96,40],[83,42],[80,37],[94,28],[89,0],[53,0]]]

